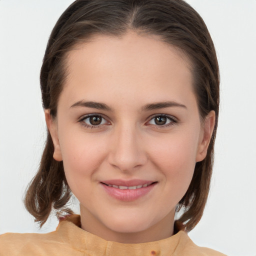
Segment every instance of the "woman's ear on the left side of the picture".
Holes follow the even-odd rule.
[[[60,151],[59,141],[58,141],[58,129],[57,129],[57,121],[52,118],[50,115],[49,109],[44,110],[44,116],[48,131],[50,133],[53,145],[54,145],[54,152],[53,158],[56,161],[62,161],[62,155]]]

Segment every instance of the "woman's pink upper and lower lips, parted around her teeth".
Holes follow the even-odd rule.
[[[132,180],[122,180],[122,179],[111,179],[111,180],[103,180],[100,182],[102,188],[106,191],[108,195],[111,197],[121,200],[121,201],[134,201],[147,193],[149,193],[154,186],[156,185],[156,181],[154,180],[142,180],[142,179],[132,179]],[[136,189],[120,189],[112,186],[108,186],[107,184],[117,185],[117,186],[138,186],[149,184],[145,187],[140,187]]]

